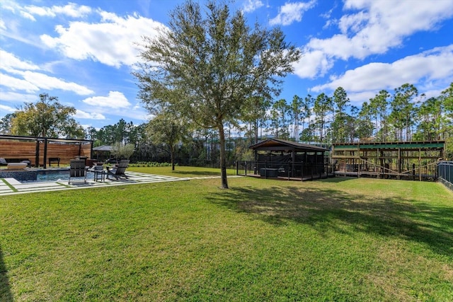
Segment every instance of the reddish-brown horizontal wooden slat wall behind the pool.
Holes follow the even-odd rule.
[[[40,144],[39,165],[44,163],[44,141]],[[59,157],[60,165],[69,165],[71,159],[76,156],[87,156],[91,158],[91,144],[59,144],[53,141],[47,142],[47,163],[49,165],[50,157]],[[35,141],[0,141],[0,157],[3,158],[28,158],[31,164],[36,166],[36,142]],[[52,166],[56,163],[52,163]]]

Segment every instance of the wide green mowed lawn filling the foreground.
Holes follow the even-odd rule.
[[[0,197],[0,301],[453,301],[453,193],[440,184],[219,185]]]

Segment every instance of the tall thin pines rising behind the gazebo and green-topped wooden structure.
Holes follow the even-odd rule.
[[[392,93],[379,91],[360,108],[338,87],[333,95],[294,95],[291,102],[269,102],[258,116],[246,121],[245,127],[246,135],[254,141],[263,136],[326,145],[447,140],[453,137],[453,83],[430,98],[405,83]]]

